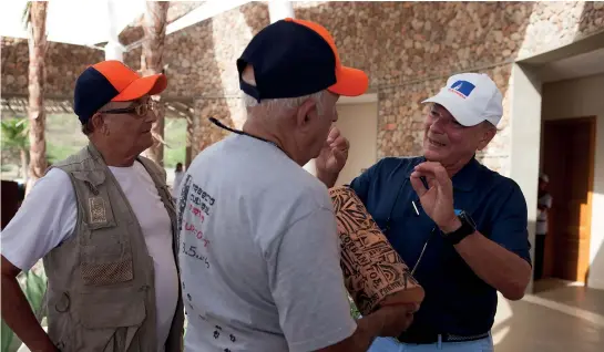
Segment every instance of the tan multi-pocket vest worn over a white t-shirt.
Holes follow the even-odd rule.
[[[147,158],[137,161],[151,175],[172,220],[178,269],[176,215],[165,172]],[[78,222],[74,236],[43,259],[50,339],[61,351],[155,352],[153,258],[117,180],[92,144],[52,167],[71,178]],[[182,351],[181,293],[178,288],[166,352]]]

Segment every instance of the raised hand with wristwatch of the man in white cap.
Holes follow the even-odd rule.
[[[420,177],[426,178],[429,188],[426,188]],[[419,164],[410,179],[423,210],[443,232],[454,231],[461,226],[453,208],[453,184],[440,163]]]

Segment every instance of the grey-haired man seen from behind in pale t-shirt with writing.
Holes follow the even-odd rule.
[[[336,102],[362,94],[367,75],[341,66],[323,27],[291,19],[263,29],[237,68],[243,131],[212,120],[234,133],[181,185],[185,351],[355,352],[398,335],[414,307],[351,318],[332,204],[301,167],[320,153],[346,158],[332,146],[347,143],[329,141]]]

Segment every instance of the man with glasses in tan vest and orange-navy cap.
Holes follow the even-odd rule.
[[[153,143],[150,95],[119,61],[78,79],[74,112],[90,144],[54,164],[2,231],[2,319],[32,351],[181,351],[176,217]],[[40,258],[49,278],[48,334],[16,277]]]

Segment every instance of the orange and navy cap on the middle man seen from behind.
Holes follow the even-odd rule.
[[[247,65],[254,68],[255,86],[242,79]],[[258,32],[237,60],[237,70],[242,91],[258,103],[323,90],[358,96],[369,85],[365,72],[341,64],[334,38],[323,25],[290,18]]]

